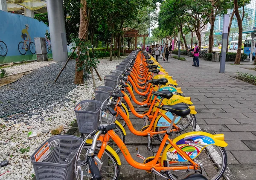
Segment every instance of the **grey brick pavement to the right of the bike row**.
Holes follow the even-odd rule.
[[[225,135],[229,179],[255,180],[256,86],[230,77],[235,70],[248,70],[227,65],[226,74],[220,74],[218,62],[200,60],[200,67],[192,67],[192,58],[187,60],[169,58],[169,63],[160,60],[160,64],[185,96],[191,96],[202,131]]]

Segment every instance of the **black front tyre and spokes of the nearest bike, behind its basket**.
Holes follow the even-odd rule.
[[[82,151],[81,151],[81,153],[83,153],[83,154],[82,154],[82,155],[81,155],[81,154],[79,155],[79,157],[80,157],[81,160],[85,160],[85,158],[86,158],[86,152],[87,152],[87,150],[90,149],[90,148],[91,148],[91,145],[89,145],[89,144],[85,144],[85,145],[84,145],[84,147],[83,147],[83,149],[82,149]],[[99,150],[100,150],[100,148],[99,148],[99,147],[96,147],[96,148],[95,148],[95,154],[98,154]],[[103,153],[103,155],[102,155],[102,159],[101,159],[101,160],[102,160],[102,162],[103,162],[103,165],[102,165],[102,168],[101,168],[101,171],[100,171],[101,174],[102,174],[102,176],[105,176],[104,174],[106,174],[106,171],[111,171],[111,170],[115,171],[115,175],[112,176],[112,178],[105,177],[105,178],[103,178],[103,179],[104,179],[104,180],[117,180],[118,177],[119,177],[119,173],[120,173],[120,167],[119,167],[119,165],[118,165],[118,163],[117,163],[116,158],[115,158],[107,149],[105,149],[105,151],[104,151],[104,153]],[[111,160],[111,162],[113,163],[113,168],[110,168],[110,167],[109,167],[110,164],[111,164],[110,160]],[[105,164],[108,165],[108,166],[104,166]],[[112,164],[111,164],[111,165],[112,165]],[[84,168],[85,168],[84,171],[88,171],[88,170],[87,170],[87,168],[88,168],[87,165],[84,165],[84,166],[82,166],[81,168],[82,168],[82,170],[84,170]]]

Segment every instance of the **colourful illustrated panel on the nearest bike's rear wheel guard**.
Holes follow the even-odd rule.
[[[176,144],[184,151],[191,159],[195,159],[200,151],[207,145],[214,144],[214,140],[208,136],[196,135],[180,139]],[[180,155],[177,150],[171,147],[166,153],[166,160],[186,162],[185,157]]]

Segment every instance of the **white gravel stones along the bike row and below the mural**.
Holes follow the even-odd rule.
[[[109,75],[111,70],[116,69],[116,65],[119,64],[122,59],[119,58],[118,60],[109,61],[107,59],[100,59],[100,64],[98,66],[98,72],[103,80],[105,75]],[[35,63],[29,63],[29,64],[22,64],[20,66],[14,66],[9,69],[9,73],[18,73],[22,71],[28,71],[32,70],[33,68],[39,68],[40,64],[42,62],[35,62]],[[53,63],[53,62],[43,62],[44,66],[47,65],[47,63]],[[29,67],[25,67],[26,65],[29,65]],[[41,64],[42,65],[42,64]],[[42,66],[41,66],[42,67]],[[22,69],[22,70],[19,70]],[[95,75],[95,82],[96,87],[97,86],[104,86],[104,80],[100,81],[98,76],[96,75],[96,72],[94,72]],[[1,167],[0,172],[1,174],[7,172],[6,174],[3,174],[0,176],[0,180],[2,179],[32,179],[32,174],[34,174],[34,170],[32,168],[32,163],[30,162],[29,158],[30,156],[35,152],[35,150],[44,142],[46,141],[50,136],[52,136],[50,133],[45,132],[46,130],[51,130],[56,125],[64,125],[64,131],[61,134],[64,134],[67,132],[67,130],[70,128],[70,122],[72,122],[74,119],[76,119],[75,113],[73,108],[77,103],[79,103],[82,100],[85,99],[92,99],[93,98],[93,90],[95,87],[93,87],[93,81],[92,78],[86,80],[84,82],[84,85],[77,86],[64,96],[71,101],[55,101],[52,103],[52,105],[49,105],[48,109],[43,110],[33,110],[32,114],[34,114],[31,118],[29,116],[24,116],[23,120],[20,123],[20,127],[15,128],[0,128],[1,133],[0,134],[0,152],[1,152],[1,160],[3,160],[6,156],[6,158],[9,159],[9,165],[6,167]],[[61,102],[61,103],[60,103]],[[63,105],[64,104],[64,105]],[[40,114],[40,117],[43,117],[45,119],[44,121],[41,121],[38,119],[38,115]],[[39,121],[40,120],[40,121]],[[25,122],[29,122],[29,125],[26,125]],[[0,124],[7,125],[7,122],[1,118]],[[10,122],[9,122],[10,123]],[[13,124],[14,122],[12,122]],[[45,133],[40,134],[40,136],[32,137],[31,139],[28,138],[28,132],[23,131],[23,128],[29,126],[29,131],[35,130],[35,131],[44,131]],[[20,148],[25,148],[29,152],[21,153]],[[3,156],[4,155],[4,156]],[[8,156],[7,156],[8,155]],[[3,172],[3,173],[2,173]],[[18,173],[19,172],[19,173]]]

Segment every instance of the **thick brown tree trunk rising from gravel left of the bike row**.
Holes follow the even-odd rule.
[[[81,9],[80,9],[80,27],[79,27],[79,34],[78,38],[82,38],[84,35],[84,32],[86,32],[87,29],[87,3],[86,0],[81,0]],[[77,55],[80,54],[80,49],[77,50]],[[75,84],[84,84],[84,71],[80,70],[78,71],[79,67],[82,67],[84,62],[79,61],[79,58],[76,58],[76,73],[75,73]]]

